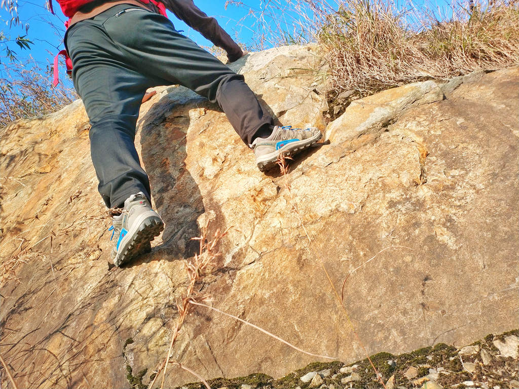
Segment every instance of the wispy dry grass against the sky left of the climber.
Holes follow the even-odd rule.
[[[0,71],[0,128],[12,121],[55,112],[78,96],[61,84],[53,88],[33,61],[11,63]]]

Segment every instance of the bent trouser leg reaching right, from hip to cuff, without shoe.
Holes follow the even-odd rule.
[[[258,103],[243,76],[176,32],[167,18],[128,8],[106,20],[104,27],[128,64],[142,74],[160,78],[164,84],[183,85],[218,102],[244,143],[252,144],[258,131],[268,131],[272,117]]]

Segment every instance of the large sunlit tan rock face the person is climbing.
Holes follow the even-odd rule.
[[[370,354],[517,326],[519,68],[381,92],[326,128],[310,49],[235,66],[282,123],[317,124],[330,145],[286,179],[263,174],[215,105],[158,89],[135,142],[166,229],[126,269],[107,265],[111,221],[81,103],[0,130],[0,353],[19,387],[128,387],[127,365],[148,368],[149,382],[185,290],[190,238],[208,220],[230,230],[197,290],[308,352],[365,357],[323,267],[339,295],[348,277],[344,307]],[[172,357],[203,378],[280,377],[316,359],[202,307]],[[172,367],[167,385],[194,380]]]

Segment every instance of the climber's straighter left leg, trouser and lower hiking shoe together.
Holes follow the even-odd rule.
[[[121,266],[149,251],[164,225],[149,202],[148,177],[134,145],[139,107],[151,81],[127,65],[106,34],[102,24],[116,11],[79,22],[66,43],[74,86],[92,124],[90,148],[99,192],[108,207],[122,208],[111,227],[112,237],[117,234],[112,259]]]

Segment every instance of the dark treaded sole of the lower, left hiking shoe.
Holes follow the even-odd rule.
[[[150,246],[148,243],[153,241],[163,229],[164,223],[160,217],[150,216],[144,219],[131,238],[124,242],[122,247],[119,247],[114,258],[114,265],[121,267],[141,254],[149,252]]]

